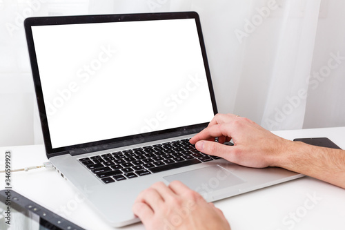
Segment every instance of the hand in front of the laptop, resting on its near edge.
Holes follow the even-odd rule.
[[[181,182],[157,182],[142,191],[133,213],[150,230],[230,230],[223,213]]]

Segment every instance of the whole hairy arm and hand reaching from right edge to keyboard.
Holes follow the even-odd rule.
[[[234,146],[214,142],[233,140]],[[345,189],[345,151],[278,137],[245,117],[217,114],[190,142],[209,155],[243,166],[278,166]]]

